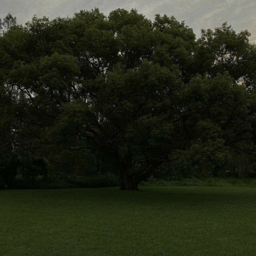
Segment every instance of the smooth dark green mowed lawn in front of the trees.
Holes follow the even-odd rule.
[[[0,191],[0,255],[256,255],[256,188]]]

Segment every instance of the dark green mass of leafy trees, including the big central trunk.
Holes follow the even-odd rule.
[[[256,46],[223,23],[98,8],[0,20],[0,186],[63,171],[247,177],[256,170]],[[2,185],[1,185],[2,184]]]

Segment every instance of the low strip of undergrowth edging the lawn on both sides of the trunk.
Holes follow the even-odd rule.
[[[90,187],[118,187],[119,178],[111,173],[97,174],[95,176],[66,176],[55,174],[47,179],[35,178],[31,180],[16,180],[13,187],[6,189],[70,189]],[[167,181],[164,179],[149,178],[142,181],[139,186],[216,186],[216,187],[256,187],[254,178],[186,178]]]

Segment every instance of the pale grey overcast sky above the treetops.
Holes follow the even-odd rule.
[[[153,19],[156,13],[174,15],[185,20],[197,37],[201,28],[213,28],[227,21],[235,31],[248,29],[250,40],[256,42],[256,0],[0,0],[0,17],[8,12],[24,24],[37,16],[73,16],[81,9],[99,7],[104,14],[113,9],[136,8]]]

